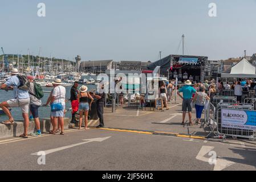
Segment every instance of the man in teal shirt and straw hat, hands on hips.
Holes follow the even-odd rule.
[[[192,95],[193,93],[196,93],[196,89],[194,89],[192,86],[192,82],[190,80],[185,81],[185,86],[183,86],[180,90],[178,90],[177,94],[182,98],[182,125],[185,125],[185,117],[186,117],[186,111],[189,113],[189,125],[192,126]],[[181,96],[180,93],[183,93],[183,96]]]

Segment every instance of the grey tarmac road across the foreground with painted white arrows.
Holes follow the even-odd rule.
[[[105,140],[83,140],[93,138]],[[100,129],[68,130],[64,136],[10,138],[0,140],[0,148],[0,170],[213,171],[256,167],[256,148],[243,144]],[[49,153],[45,165],[38,164],[40,156],[31,155],[39,151]],[[217,163],[210,160],[210,164],[214,154]]]

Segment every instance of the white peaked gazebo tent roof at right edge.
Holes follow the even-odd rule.
[[[245,58],[221,73],[222,78],[256,78],[256,67]]]

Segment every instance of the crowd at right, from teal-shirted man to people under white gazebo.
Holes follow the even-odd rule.
[[[237,97],[237,104],[242,102],[243,93],[248,92],[249,89],[254,89],[256,91],[256,82],[252,80],[240,80],[234,81],[233,84],[229,84],[229,82],[222,82],[218,80],[216,84],[216,80],[205,80],[204,83],[197,83],[193,86],[190,80],[185,82],[185,86],[183,86],[180,90],[178,90],[177,94],[182,98],[182,125],[184,125],[185,115],[188,111],[189,114],[189,125],[193,125],[192,123],[192,108],[193,105],[196,108],[196,123],[201,124],[201,115],[202,111],[205,108],[206,102],[213,102],[214,96],[216,93],[222,93],[224,90],[234,90],[234,96]],[[181,96],[182,93],[182,96]]]

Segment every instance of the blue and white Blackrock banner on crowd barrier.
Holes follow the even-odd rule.
[[[234,129],[256,130],[256,111],[222,109],[221,126]]]

